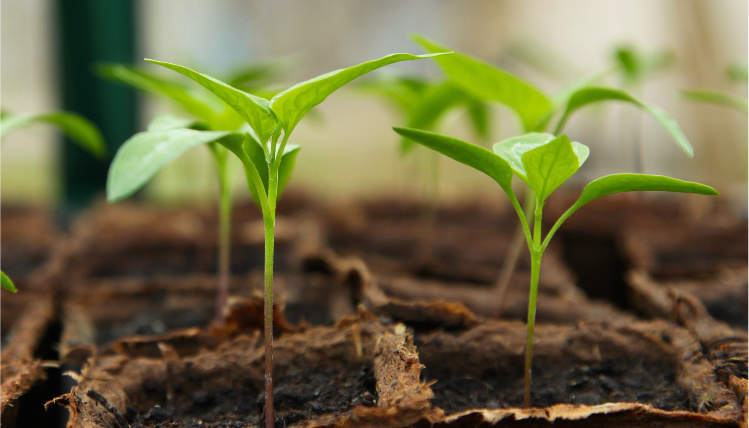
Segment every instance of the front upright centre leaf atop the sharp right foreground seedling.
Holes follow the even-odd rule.
[[[523,154],[522,162],[527,176],[526,183],[542,202],[582,165],[566,135],[528,150]]]

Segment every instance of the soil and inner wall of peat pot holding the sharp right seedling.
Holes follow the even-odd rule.
[[[524,342],[521,323],[417,336],[424,380],[435,382],[432,404],[448,414],[522,406]],[[735,396],[711,381],[712,366],[690,354],[700,353],[692,337],[666,323],[539,325],[534,350],[533,406],[637,402],[739,412]]]

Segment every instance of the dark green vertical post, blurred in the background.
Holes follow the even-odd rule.
[[[133,62],[135,1],[56,0],[56,7],[62,108],[99,126],[109,152],[100,160],[69,141],[62,145],[62,203],[68,211],[103,194],[112,156],[136,131],[135,93],[95,74],[98,63]]]

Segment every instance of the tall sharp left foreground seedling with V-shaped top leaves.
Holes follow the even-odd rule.
[[[140,138],[143,147],[118,152],[112,165],[107,192],[110,197],[127,193],[132,181],[151,174],[189,147],[216,142],[233,153],[241,162],[247,187],[257,199],[265,225],[264,263],[264,335],[265,335],[265,425],[273,426],[273,253],[276,224],[276,203],[284,184],[291,175],[297,146],[288,145],[289,137],[301,119],[316,105],[350,81],[388,64],[410,61],[433,55],[392,54],[353,67],[323,74],[294,85],[271,99],[252,95],[218,79],[167,62],[147,60],[180,73],[208,89],[229,105],[245,122],[239,131],[196,131],[169,129],[163,134],[147,134]],[[158,132],[158,131],[157,131]],[[174,136],[171,133],[178,132]],[[136,135],[137,137],[137,135]],[[134,137],[135,138],[135,137]],[[145,141],[155,139],[155,142]]]

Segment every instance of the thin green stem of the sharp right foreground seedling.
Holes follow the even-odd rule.
[[[541,221],[543,201],[536,199],[534,214],[533,245],[529,246],[531,253],[531,287],[528,294],[528,330],[525,339],[525,390],[523,406],[531,406],[531,375],[533,371],[533,332],[536,327],[536,303],[538,299],[538,280],[541,275],[541,257],[544,254],[541,246]]]

